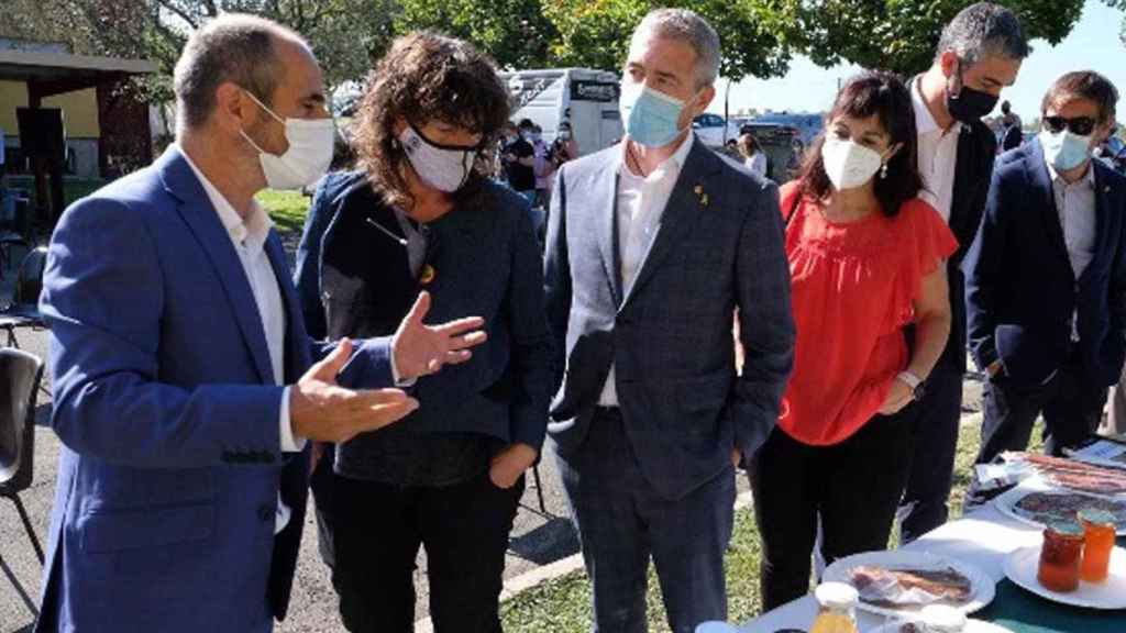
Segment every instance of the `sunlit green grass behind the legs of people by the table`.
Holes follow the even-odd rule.
[[[1040,425],[1034,433],[1030,451],[1040,451]],[[981,425],[962,427],[955,462],[954,490],[950,494],[951,520],[962,516],[966,485],[974,457],[981,444]],[[893,535],[893,543],[894,535]],[[754,526],[751,508],[735,512],[735,532],[724,572],[727,579],[729,619],[743,623],[759,615],[759,533]],[[661,590],[652,567],[649,574],[649,625],[650,631],[668,632]],[[501,605],[501,621],[509,633],[586,633],[590,631],[590,583],[583,572],[572,573],[539,585],[507,600]]]

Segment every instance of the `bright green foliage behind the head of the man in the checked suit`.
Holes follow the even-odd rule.
[[[739,80],[748,74],[774,77],[789,65],[798,0],[556,0],[545,6],[558,37],[551,59],[558,65],[618,71],[629,36],[650,10],[674,6],[705,17],[718,32],[720,72]]]

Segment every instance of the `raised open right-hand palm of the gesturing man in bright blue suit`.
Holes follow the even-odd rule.
[[[472,356],[470,348],[483,344],[488,338],[480,329],[485,324],[485,320],[480,316],[427,326],[422,319],[429,311],[430,293],[420,293],[395,331],[392,354],[395,355],[400,380],[409,381],[434,374],[446,364],[465,363]]]

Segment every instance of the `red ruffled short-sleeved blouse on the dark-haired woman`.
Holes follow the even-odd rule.
[[[793,277],[797,344],[794,374],[778,426],[804,444],[848,439],[875,416],[908,366],[903,327],[914,319],[922,279],[958,248],[926,202],[903,204],[895,217],[825,220],[798,182],[781,188]]]

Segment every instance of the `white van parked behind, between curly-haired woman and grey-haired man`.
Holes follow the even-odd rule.
[[[529,118],[552,143],[558,124],[570,121],[580,154],[597,152],[622,140],[618,113],[620,80],[601,70],[570,68],[500,73],[512,95],[511,121]]]

